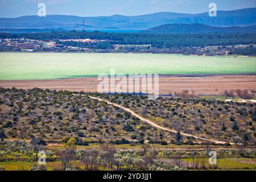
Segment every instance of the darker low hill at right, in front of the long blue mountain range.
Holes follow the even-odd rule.
[[[142,31],[144,34],[256,33],[256,25],[247,27],[215,27],[204,24],[164,24]]]

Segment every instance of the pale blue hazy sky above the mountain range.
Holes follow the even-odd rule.
[[[0,0],[0,17],[37,15],[38,3],[46,3],[48,15],[140,15],[160,11],[203,13],[211,2],[218,10],[256,7],[256,0]]]

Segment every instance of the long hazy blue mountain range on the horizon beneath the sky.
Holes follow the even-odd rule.
[[[200,23],[209,26],[251,26],[256,24],[256,8],[217,11],[217,17],[208,13],[180,14],[154,13],[139,16],[98,16],[79,17],[69,15],[22,16],[19,18],[0,18],[0,28],[47,28],[81,30],[82,22],[86,29],[148,29],[163,24],[193,24]]]

